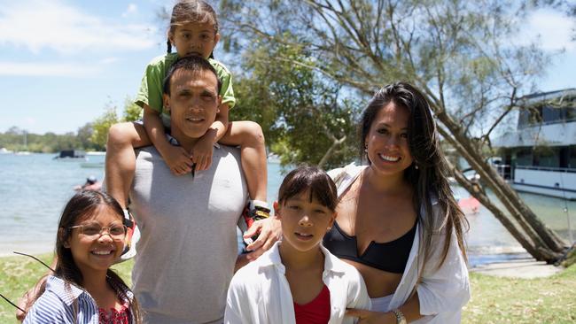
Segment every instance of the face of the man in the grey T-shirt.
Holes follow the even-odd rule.
[[[170,79],[170,94],[164,95],[172,135],[183,147],[195,143],[214,122],[221,102],[213,72],[175,71]]]

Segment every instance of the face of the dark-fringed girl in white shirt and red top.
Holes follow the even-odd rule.
[[[334,223],[335,214],[310,193],[302,192],[287,199],[284,204],[274,204],[276,217],[282,222],[284,242],[296,251],[315,249]]]

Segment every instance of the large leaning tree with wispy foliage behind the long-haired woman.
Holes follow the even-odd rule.
[[[250,57],[267,46],[261,64],[307,69],[365,100],[379,87],[409,81],[424,91],[443,139],[494,192],[499,204],[455,178],[486,206],[534,258],[553,262],[566,249],[487,162],[490,138],[534,89],[549,58],[515,38],[533,7],[500,0],[222,0],[227,48]],[[284,37],[291,35],[291,37]],[[290,50],[287,50],[288,52]]]

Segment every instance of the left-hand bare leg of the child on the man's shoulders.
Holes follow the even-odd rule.
[[[118,200],[123,209],[128,204],[128,191],[136,170],[134,149],[151,145],[144,125],[125,122],[108,130],[106,143],[106,191]]]

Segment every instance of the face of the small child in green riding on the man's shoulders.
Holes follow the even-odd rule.
[[[220,34],[214,30],[210,22],[189,22],[176,26],[168,33],[168,40],[175,46],[180,58],[193,55],[209,58],[220,40]]]

